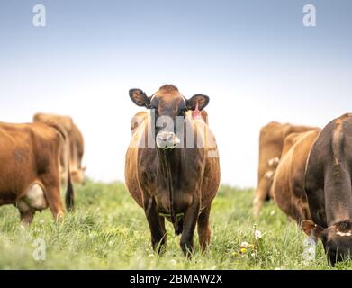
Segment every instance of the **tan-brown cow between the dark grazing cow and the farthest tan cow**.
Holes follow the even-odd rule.
[[[297,223],[311,219],[303,188],[304,173],[311,146],[319,133],[320,130],[292,133],[284,139],[283,154],[271,187],[278,207]]]

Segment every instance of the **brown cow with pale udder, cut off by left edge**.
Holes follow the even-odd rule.
[[[64,215],[60,198],[59,153],[67,137],[55,124],[0,122],[0,205],[14,204],[23,223],[48,206],[53,217]],[[73,209],[74,191],[68,173],[66,204]]]

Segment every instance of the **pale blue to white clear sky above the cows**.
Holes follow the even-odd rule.
[[[46,27],[32,25],[34,4]],[[305,4],[316,27],[302,24]],[[0,121],[71,115],[96,180],[123,180],[132,87],[209,95],[222,183],[255,186],[260,127],[351,112],[351,76],[350,0],[0,2]]]

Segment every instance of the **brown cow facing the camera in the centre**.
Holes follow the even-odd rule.
[[[126,185],[144,208],[154,250],[159,253],[167,243],[167,218],[176,235],[182,234],[180,246],[190,257],[196,224],[202,249],[209,245],[209,215],[220,184],[216,142],[201,113],[209,98],[196,94],[187,100],[173,85],[160,87],[150,97],[131,89],[130,97],[150,112],[140,113],[139,126],[132,134],[126,154]],[[180,127],[184,133],[179,134]]]

